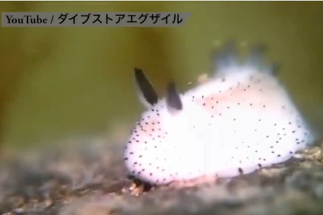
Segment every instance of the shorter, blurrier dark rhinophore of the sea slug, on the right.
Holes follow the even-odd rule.
[[[166,104],[169,113],[172,115],[183,109],[183,104],[174,82],[170,82],[167,86]]]

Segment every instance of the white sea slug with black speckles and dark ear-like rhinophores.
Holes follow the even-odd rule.
[[[284,162],[311,144],[314,135],[278,82],[277,68],[261,65],[262,55],[255,47],[239,63],[229,43],[209,80],[181,94],[170,83],[163,99],[135,69],[147,110],[125,147],[130,175],[156,185],[234,177]]]

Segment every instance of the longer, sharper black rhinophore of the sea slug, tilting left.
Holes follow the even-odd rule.
[[[135,79],[141,103],[147,108],[157,103],[158,95],[141,69],[135,68]]]

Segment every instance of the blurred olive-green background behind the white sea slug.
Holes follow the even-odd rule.
[[[0,28],[0,142],[50,145],[87,135],[126,138],[143,110],[133,68],[164,95],[211,68],[229,39],[268,45],[280,80],[323,131],[322,2],[1,2],[1,12],[191,12],[172,28]]]

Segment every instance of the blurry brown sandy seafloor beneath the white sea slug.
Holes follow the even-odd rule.
[[[323,214],[321,144],[274,167],[212,185],[134,186],[124,144],[87,138],[5,152],[0,214]]]

